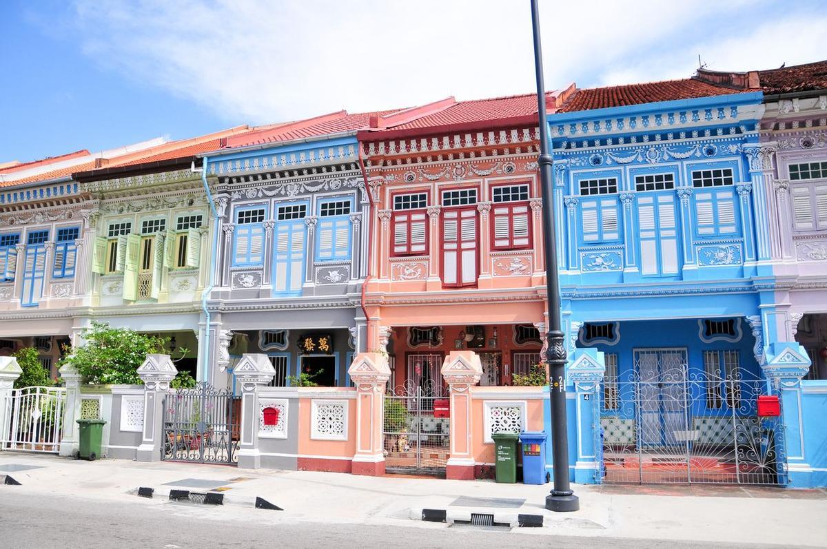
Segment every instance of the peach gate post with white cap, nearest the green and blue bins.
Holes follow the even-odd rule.
[[[482,377],[482,363],[474,351],[451,351],[442,363],[442,377],[451,389],[451,457],[445,475],[452,480],[474,479],[474,441],[471,385]]]

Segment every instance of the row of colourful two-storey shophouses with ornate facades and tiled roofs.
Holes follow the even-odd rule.
[[[274,387],[347,388],[354,356],[386,351],[389,398],[433,399],[428,449],[397,432],[388,465],[444,467],[446,357],[471,351],[490,390],[542,361],[548,131],[572,478],[658,481],[689,455],[687,481],[740,460],[827,485],[825,71],[571,84],[547,93],[547,128],[532,95],[447,98],[2,165],[0,349],[36,346],[56,376],[109,322],[171,337],[179,370],[234,391],[245,353]],[[525,399],[517,421],[543,428],[543,394]]]

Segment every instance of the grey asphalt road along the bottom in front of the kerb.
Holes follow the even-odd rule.
[[[44,498],[0,486],[0,547],[737,547],[673,540],[556,537],[547,532],[448,528],[436,523],[288,523],[270,513],[278,512],[137,497],[134,502]]]

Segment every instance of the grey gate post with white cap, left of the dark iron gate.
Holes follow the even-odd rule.
[[[147,355],[137,373],[144,382],[144,432],[141,446],[135,451],[135,461],[160,461],[164,437],[164,397],[178,370],[169,355]]]

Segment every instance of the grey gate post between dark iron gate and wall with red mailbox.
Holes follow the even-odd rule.
[[[232,373],[241,384],[241,443],[238,447],[238,468],[261,468],[261,453],[258,449],[258,432],[261,410],[258,391],[275,377],[275,368],[270,359],[261,353],[245,353]],[[232,430],[232,427],[231,427]]]

